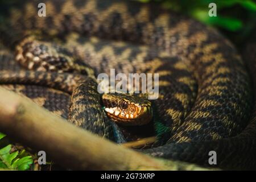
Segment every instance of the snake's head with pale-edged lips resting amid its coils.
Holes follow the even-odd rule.
[[[137,94],[103,94],[104,110],[112,121],[126,126],[146,125],[152,119],[151,102]]]

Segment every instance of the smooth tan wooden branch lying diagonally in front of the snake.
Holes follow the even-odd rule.
[[[152,158],[118,146],[1,87],[0,97],[0,131],[36,150],[46,151],[47,156],[63,167],[80,170],[204,169]]]

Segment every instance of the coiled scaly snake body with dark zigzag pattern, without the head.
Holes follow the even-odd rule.
[[[37,15],[41,2],[46,17]],[[139,151],[208,167],[208,153],[216,151],[214,167],[256,169],[255,58],[245,60],[249,75],[236,48],[213,28],[132,1],[28,1],[6,16],[0,28],[3,45],[11,48],[1,49],[6,88],[122,143],[93,76],[111,68],[126,75],[158,73],[159,97],[152,100],[158,142]],[[30,42],[30,34],[38,40]],[[27,62],[45,53],[47,64]],[[54,72],[63,65],[64,72]]]

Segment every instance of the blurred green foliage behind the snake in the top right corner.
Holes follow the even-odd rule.
[[[217,27],[238,47],[250,39],[256,30],[255,0],[136,0],[143,3],[155,2],[204,24]],[[209,3],[216,3],[217,16],[209,16]]]

